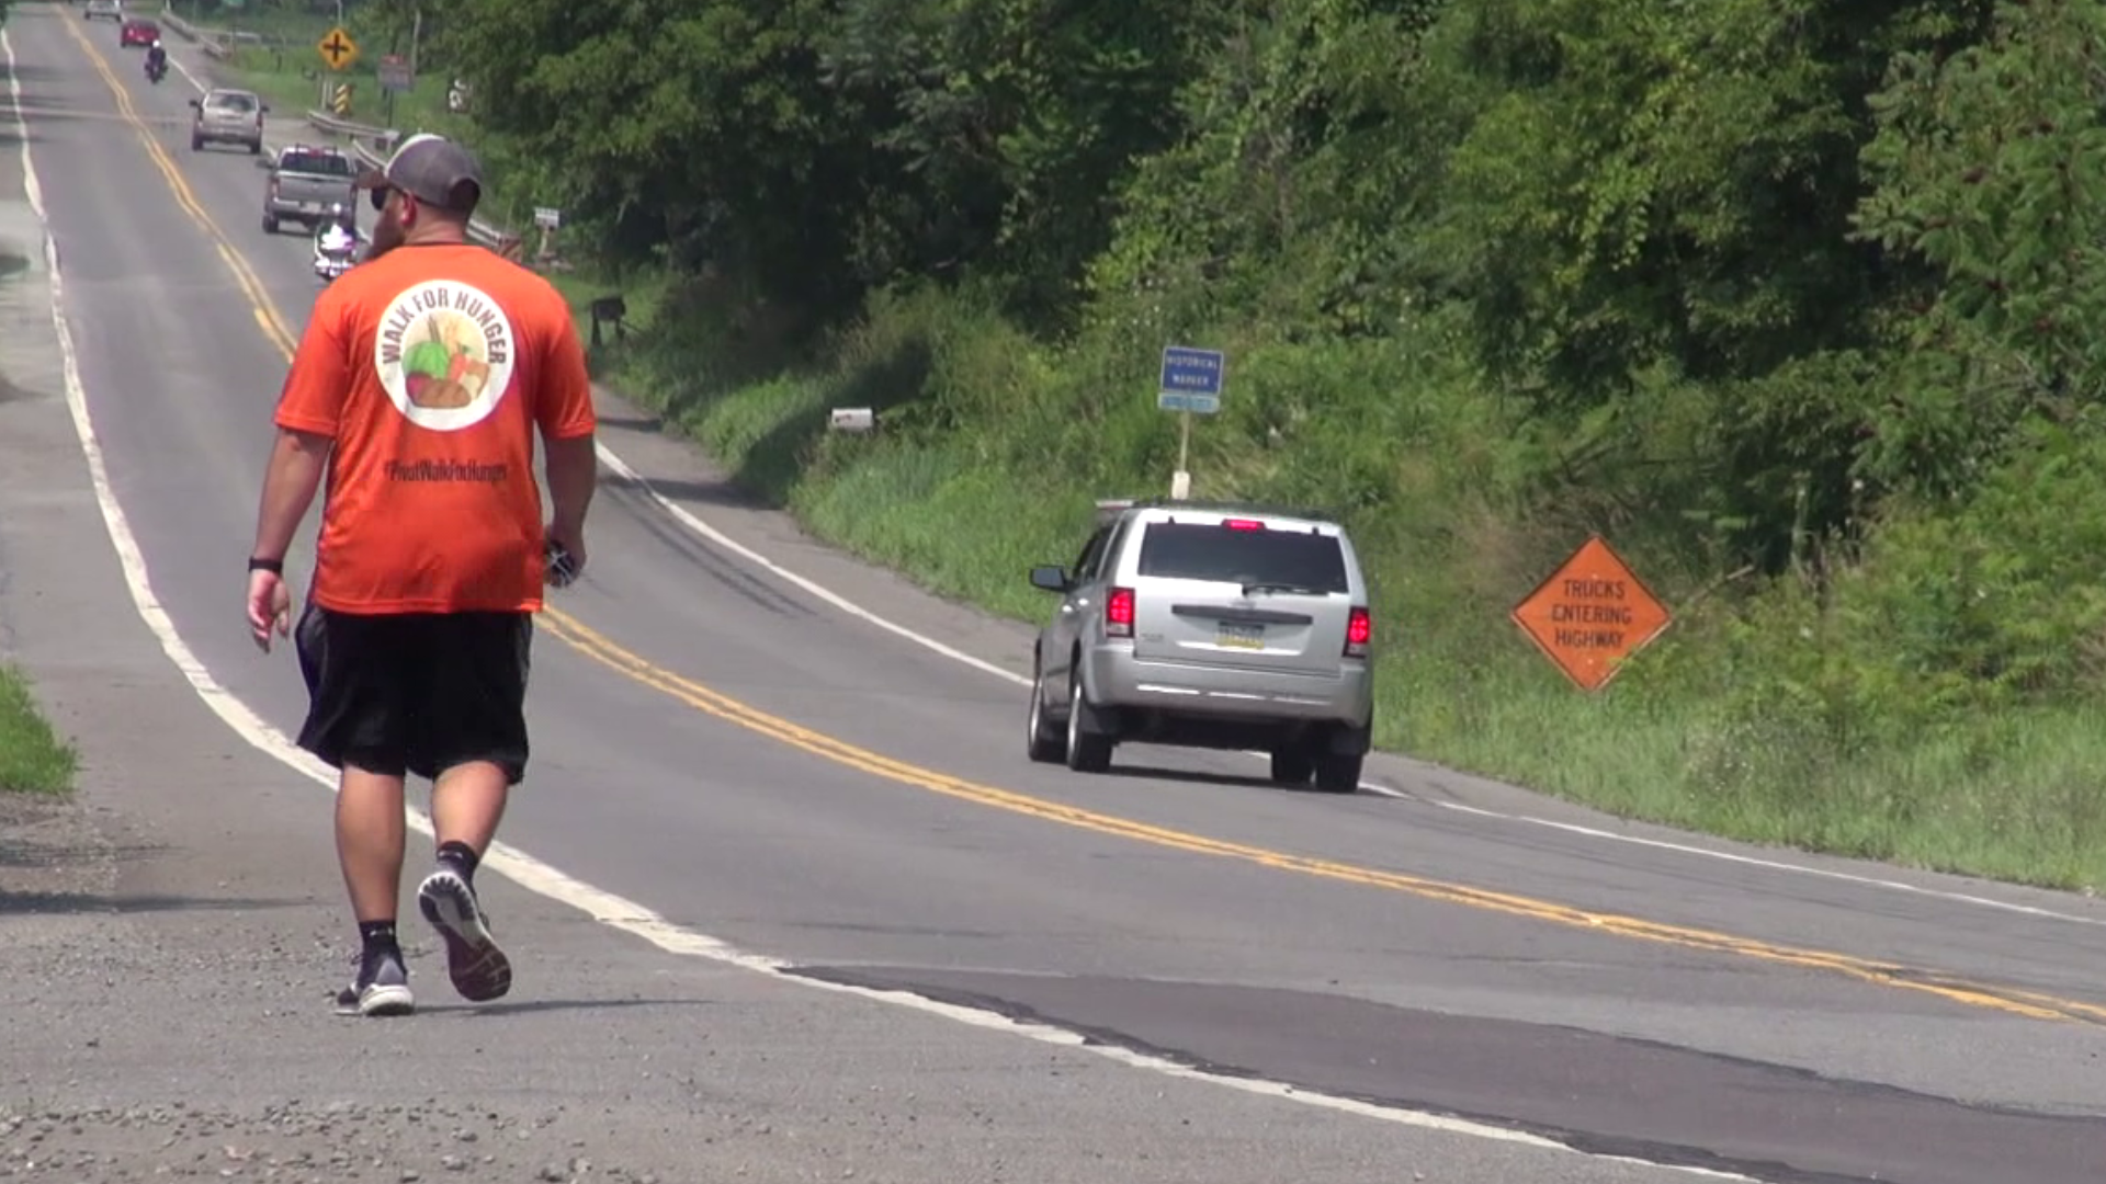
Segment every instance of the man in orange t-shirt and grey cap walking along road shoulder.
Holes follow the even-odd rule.
[[[295,636],[310,702],[299,744],[341,775],[337,857],[362,952],[337,1009],[402,1015],[415,1007],[396,944],[411,773],[434,782],[436,868],[417,906],[446,944],[453,988],[476,1003],[512,988],[474,874],[526,773],[543,581],[585,563],[596,421],[564,299],[468,240],[482,198],[468,150],[415,135],[358,185],[379,219],[366,259],[316,299],[278,398],[249,628],[265,653],[272,632],[293,632],[284,554],[326,476]]]

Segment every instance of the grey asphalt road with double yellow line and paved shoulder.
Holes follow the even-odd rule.
[[[263,236],[253,158],[187,150],[183,74],[147,86],[110,25],[82,40],[57,4],[17,6],[8,34],[80,386],[143,567],[211,678],[293,731],[297,672],[291,655],[249,645],[236,560],[284,373],[257,305],[301,327],[314,297],[307,242]],[[204,59],[181,44],[175,55],[204,76]],[[13,143],[0,169],[19,206]],[[0,230],[11,225],[21,238],[19,219]],[[198,923],[213,942],[274,942],[274,891],[297,900],[284,908],[314,927],[310,944],[337,942],[326,796],[198,708],[137,617],[118,624],[128,605],[48,352],[17,333],[0,362],[17,388],[44,392],[0,398],[15,417],[0,419],[0,605],[13,645],[82,731],[91,777],[105,771],[93,792],[105,830],[158,836],[154,860],[116,872],[118,912],[150,881],[173,902],[187,897],[171,885],[240,881],[249,895],[200,895],[219,902]],[[604,440],[722,537],[965,653],[1024,666],[1026,630],[811,546],[779,516],[737,506],[701,457],[632,407],[604,396],[602,411]],[[545,624],[535,773],[505,838],[796,975],[1763,1180],[2060,1184],[2106,1163],[2106,908],[2091,900],[1611,824],[1396,758],[1369,765],[1388,792],[1344,798],[1270,788],[1238,756],[1120,750],[1106,777],[1036,767],[1021,754],[1013,680],[842,611],[619,480],[592,525],[590,577],[558,594]],[[984,1148],[971,1123],[931,1121],[916,1150],[872,1142],[889,1150],[861,1161],[863,1178],[916,1178],[937,1163],[977,1167],[920,1178],[1398,1180],[1400,1165],[1419,1180],[1674,1178],[1087,1053],[1061,1053],[1087,1070],[1053,1066],[1015,1037],[668,954],[524,887],[486,893],[508,933],[529,942],[508,1058],[575,1068],[575,1081],[539,1087],[545,1100],[575,1089],[573,1102],[649,1114],[659,1102],[611,1100],[602,1079],[651,1055],[655,1072],[708,1083],[729,1064],[720,1049],[735,1047],[794,1066],[741,1077],[739,1089],[807,1125],[811,1110],[851,1112],[826,1096],[863,1079],[931,1098],[969,1081],[1000,1114],[1007,1159],[973,1159]],[[17,925],[6,912],[57,925],[17,906],[0,910],[0,933]],[[187,916],[168,912],[177,921],[156,925]],[[21,933],[40,950],[95,940]],[[34,963],[0,965],[19,975]],[[440,994],[428,967],[419,984]],[[246,1047],[259,1037],[238,1024],[194,1032],[192,1045],[181,1024],[158,1024],[139,1055],[181,1060],[200,1081],[225,1079],[215,1058],[238,1062],[265,1079],[234,1091],[265,1104],[270,1070],[255,1066],[358,1043],[341,1024],[305,1034],[335,1024],[314,1005],[335,963],[310,952],[274,973],[251,990],[280,1015],[272,1058]],[[80,969],[80,982],[110,980],[99,965]],[[590,1032],[577,1013],[531,1007],[543,992],[628,984],[718,1005],[596,1013]],[[34,982],[8,990],[65,1015]],[[17,1062],[44,1066],[21,1072],[32,1091],[164,1102],[141,1085],[152,1074],[82,1079],[65,1024],[42,1039],[21,1047],[46,1060]],[[421,1081],[461,1085],[444,1060],[459,1037],[432,1039]],[[697,1129],[661,1127],[640,1144],[661,1163],[718,1163]],[[0,1123],[0,1144],[4,1133]],[[819,1148],[868,1138],[807,1131]]]

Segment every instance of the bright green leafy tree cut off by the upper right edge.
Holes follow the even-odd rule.
[[[1879,97],[1864,238],[1938,270],[1868,472],[1973,480],[2011,426],[2106,394],[2106,8],[2003,4],[1984,44],[1912,53]]]

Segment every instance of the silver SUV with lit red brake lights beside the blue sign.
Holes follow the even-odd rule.
[[[1099,773],[1120,742],[1266,750],[1272,780],[1350,794],[1375,710],[1352,539],[1312,514],[1104,501],[1034,651],[1028,752]]]

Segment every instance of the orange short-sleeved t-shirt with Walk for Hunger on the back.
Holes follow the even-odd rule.
[[[541,609],[535,428],[596,428],[577,324],[548,280],[472,244],[352,268],[314,301],[276,419],[335,440],[318,605]]]

